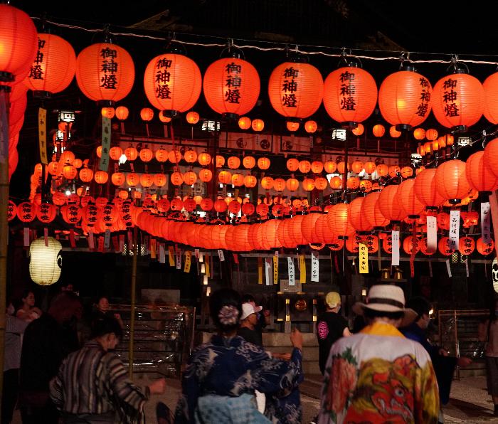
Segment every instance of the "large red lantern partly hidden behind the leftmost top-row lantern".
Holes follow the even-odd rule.
[[[38,34],[38,53],[24,84],[34,92],[49,95],[61,92],[75,76],[76,54],[73,46],[59,36]]]

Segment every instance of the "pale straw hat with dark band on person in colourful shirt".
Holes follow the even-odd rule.
[[[405,308],[405,295],[401,287],[388,284],[370,287],[366,302],[356,302],[352,309],[358,315],[363,315],[365,309],[380,312],[404,312],[400,327],[406,327],[415,321],[417,317],[417,312],[413,309]]]

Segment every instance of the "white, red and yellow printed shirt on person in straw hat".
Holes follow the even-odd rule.
[[[376,322],[339,339],[325,366],[319,424],[437,423],[438,382],[423,346]]]

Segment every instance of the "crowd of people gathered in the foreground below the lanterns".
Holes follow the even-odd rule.
[[[191,353],[176,409],[159,403],[158,423],[302,423],[299,330],[290,334],[292,351],[272,353],[263,344],[270,313],[253,296],[224,288],[209,307],[216,334]],[[428,300],[405,302],[400,287],[373,285],[353,306],[353,332],[339,293],[327,293],[324,307],[317,319],[322,398],[312,423],[443,422],[455,366],[471,361],[430,342]],[[107,297],[95,300],[83,325],[82,315],[80,297],[67,288],[46,312],[32,291],[9,304],[2,424],[16,407],[23,424],[144,423],[144,404],[164,393],[164,378],[147,387],[129,378],[113,352],[124,324]],[[498,416],[498,301],[479,330]]]

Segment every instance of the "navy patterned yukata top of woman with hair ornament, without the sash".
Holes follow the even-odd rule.
[[[290,361],[281,361],[240,336],[228,339],[215,335],[198,346],[189,358],[175,423],[194,423],[198,399],[202,396],[252,395],[255,390],[267,394],[265,415],[273,422],[300,423],[301,361],[299,349],[292,350]]]

